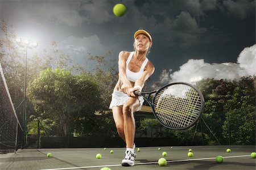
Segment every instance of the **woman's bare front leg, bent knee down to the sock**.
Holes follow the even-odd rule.
[[[135,119],[134,113],[138,109],[140,103],[138,98],[130,98],[122,108],[123,128],[125,134],[126,148],[133,148],[135,138]]]

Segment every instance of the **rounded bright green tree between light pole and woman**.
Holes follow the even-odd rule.
[[[28,98],[36,111],[60,122],[65,136],[70,131],[70,120],[94,114],[101,106],[100,91],[92,76],[74,76],[59,68],[42,71],[28,85]]]

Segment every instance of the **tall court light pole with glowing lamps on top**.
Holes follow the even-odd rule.
[[[26,128],[27,128],[27,99],[26,99],[26,89],[27,89],[27,49],[33,49],[38,47],[37,42],[32,42],[28,39],[21,39],[17,38],[16,43],[26,49],[26,56],[25,56],[25,69],[24,69],[24,93],[23,93],[23,146],[25,148],[26,145]],[[21,104],[21,103],[20,103]]]

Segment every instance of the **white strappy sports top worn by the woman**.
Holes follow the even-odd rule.
[[[141,75],[142,75],[142,73],[143,73],[143,71],[144,71],[144,68],[145,68],[145,66],[146,66],[146,64],[147,64],[148,59],[147,59],[147,57],[146,57],[146,59],[144,60],[143,64],[141,65],[141,69],[139,70],[139,72],[134,73],[134,72],[131,72],[131,71],[128,69],[128,64],[130,63],[131,58],[133,57],[133,54],[134,54],[134,51],[130,53],[130,55],[129,55],[127,61],[126,61],[126,76],[127,76],[127,78],[128,78],[130,81],[135,82],[136,80],[139,79],[139,77],[141,77]]]

